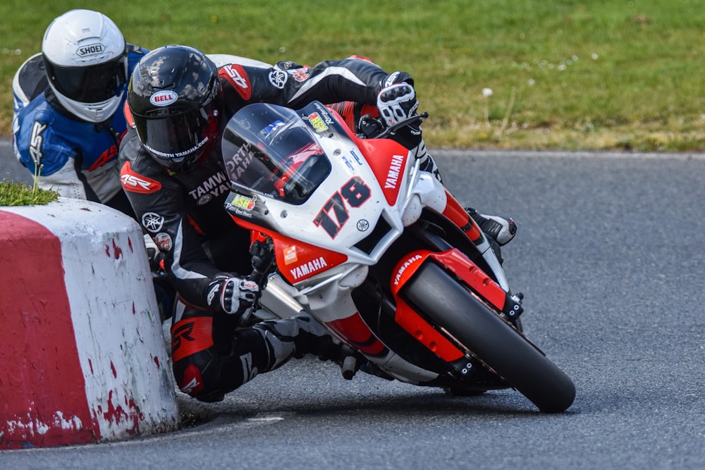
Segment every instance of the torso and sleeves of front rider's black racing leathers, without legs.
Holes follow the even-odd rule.
[[[379,89],[411,81],[406,73],[388,75],[361,58],[326,61],[313,68],[280,63],[274,68],[230,64],[219,68],[226,113],[254,102],[301,107],[357,101],[375,104]],[[237,228],[223,209],[229,181],[219,145],[192,173],[169,173],[154,161],[130,130],[120,149],[121,183],[137,220],[166,254],[166,268],[188,303],[207,308],[205,291],[218,272],[250,273],[249,234]]]

